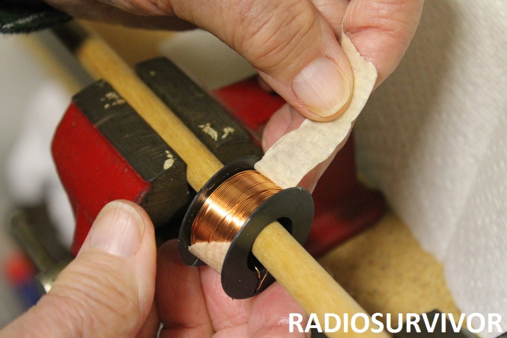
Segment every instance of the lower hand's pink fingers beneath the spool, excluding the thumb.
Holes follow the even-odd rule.
[[[176,244],[165,243],[157,257],[155,299],[164,326],[161,338],[305,336],[289,333],[289,313],[306,315],[278,283],[255,297],[233,300],[225,294],[218,273],[207,266],[184,265]]]

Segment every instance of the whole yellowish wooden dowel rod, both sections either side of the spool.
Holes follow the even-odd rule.
[[[173,112],[138,79],[134,71],[96,35],[90,32],[81,34],[79,43],[71,46],[71,49],[92,77],[110,83],[178,153],[187,164],[187,179],[196,191],[223,167]],[[253,244],[252,251],[307,313],[317,314],[321,325],[325,313],[348,313],[349,316],[366,313],[280,223],[275,221],[263,230]],[[344,334],[353,336],[355,333],[349,328],[349,333],[339,330],[328,333],[328,336],[342,337]],[[363,336],[371,334],[371,331],[367,331]]]

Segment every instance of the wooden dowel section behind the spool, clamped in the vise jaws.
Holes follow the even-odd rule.
[[[76,22],[67,25],[56,30],[56,34],[69,45],[76,58],[94,79],[103,79],[111,84],[174,149],[187,164],[189,184],[195,191],[199,191],[204,183],[223,167],[223,164],[100,37]]]

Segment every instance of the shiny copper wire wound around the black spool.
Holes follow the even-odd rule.
[[[249,215],[279,191],[256,170],[235,174],[203,202],[192,223],[191,243],[232,242]]]

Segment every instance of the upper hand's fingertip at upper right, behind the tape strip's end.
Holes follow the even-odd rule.
[[[343,29],[378,71],[376,86],[400,63],[421,17],[423,0],[352,0]]]

